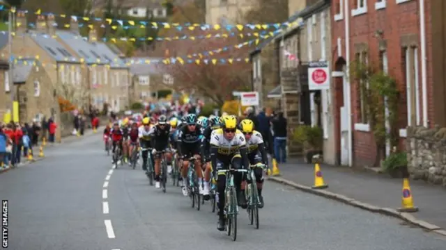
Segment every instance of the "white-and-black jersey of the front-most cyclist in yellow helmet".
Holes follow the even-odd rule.
[[[239,130],[236,131],[236,134],[232,138],[232,140],[227,140],[224,137],[224,132],[222,128],[215,129],[210,134],[210,146],[214,146],[218,148],[218,153],[229,156],[234,153],[238,153],[238,149],[240,147],[246,145],[245,135]]]

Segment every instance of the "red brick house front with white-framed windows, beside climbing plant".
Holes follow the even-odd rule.
[[[401,140],[407,126],[429,126],[429,120],[432,124],[431,50],[424,50],[431,47],[431,17],[427,15],[431,2],[424,1],[424,6],[420,0],[332,1],[334,117],[342,165],[370,166],[376,158],[363,93],[344,74],[354,60],[380,65],[397,80]],[[420,8],[424,8],[425,17]],[[425,22],[420,22],[421,18]],[[420,35],[423,32],[427,35]],[[445,113],[445,109],[438,112]]]

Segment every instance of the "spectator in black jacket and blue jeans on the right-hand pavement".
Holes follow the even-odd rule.
[[[277,113],[272,119],[272,131],[274,133],[274,153],[277,163],[286,163],[286,136],[287,121],[283,112]]]

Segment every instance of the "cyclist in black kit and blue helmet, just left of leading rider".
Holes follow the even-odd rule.
[[[186,176],[187,176],[187,168],[189,166],[189,159],[193,156],[195,160],[195,172],[197,172],[197,176],[199,179],[199,192],[203,194],[202,181],[203,174],[201,172],[200,166],[200,153],[201,153],[201,138],[203,135],[201,133],[201,127],[197,124],[197,115],[189,114],[185,118],[185,125],[180,128],[180,132],[178,134],[178,141],[180,142],[180,152],[183,155],[183,169],[181,171],[181,175],[183,176],[183,183],[181,184],[181,189],[183,191],[183,195],[187,196],[187,188],[185,186]]]

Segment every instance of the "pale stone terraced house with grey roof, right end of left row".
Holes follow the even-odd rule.
[[[70,22],[70,31],[56,31],[57,39],[86,65],[91,105],[102,109],[104,103],[114,111],[129,106],[128,66],[106,44],[98,42],[97,32],[92,29],[88,41],[79,34],[76,20]]]

